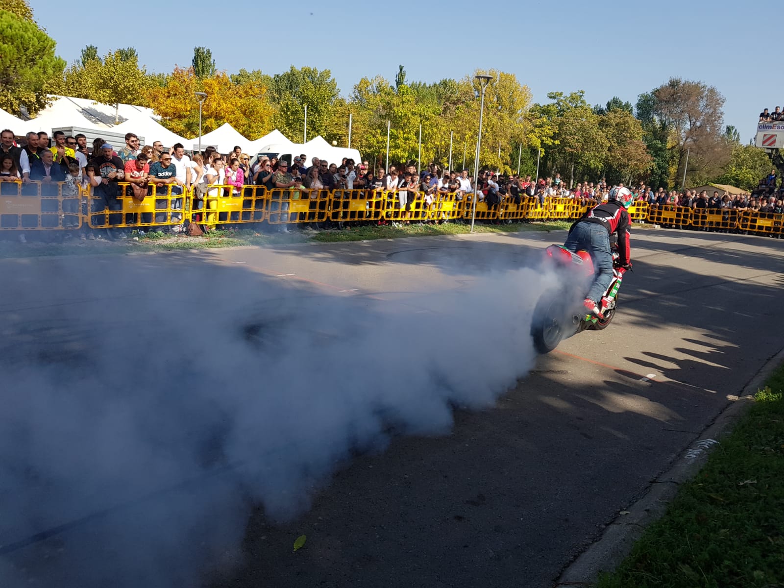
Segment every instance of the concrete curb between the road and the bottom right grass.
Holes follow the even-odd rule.
[[[727,408],[677,457],[670,470],[657,477],[641,499],[623,511],[628,514],[615,517],[615,520],[604,528],[601,537],[564,568],[554,588],[590,588],[596,583],[600,572],[612,572],[618,567],[648,524],[658,520],[666,512],[670,501],[677,494],[678,486],[691,480],[702,469],[713,448],[720,445],[718,439],[731,431],[735,420],[742,416],[753,402],[754,394],[757,394],[765,380],[782,363],[784,349],[768,358],[743,387],[741,396],[730,397],[731,402]]]

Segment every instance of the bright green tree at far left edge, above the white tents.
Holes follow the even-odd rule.
[[[34,116],[49,104],[47,95],[63,74],[56,43],[31,20],[0,10],[0,108]]]

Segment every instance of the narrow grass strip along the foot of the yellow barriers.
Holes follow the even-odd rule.
[[[546,223],[513,223],[513,224],[477,224],[477,233],[510,233],[522,230],[557,230],[568,229],[572,221],[557,220]],[[41,231],[38,234],[27,233],[27,243],[13,240],[15,235],[5,234],[5,241],[0,241],[0,258],[95,255],[103,253],[128,253],[152,251],[176,251],[182,249],[218,249],[241,245],[288,245],[318,241],[321,243],[341,241],[369,241],[372,239],[390,239],[399,237],[426,237],[432,235],[460,234],[470,232],[469,224],[447,223],[441,225],[412,224],[407,227],[349,227],[343,230],[299,231],[289,233],[260,232],[252,229],[213,230],[201,237],[187,237],[177,234],[149,233],[138,235],[131,233],[130,238],[111,241],[80,241],[71,238],[67,241],[53,241],[60,234]]]

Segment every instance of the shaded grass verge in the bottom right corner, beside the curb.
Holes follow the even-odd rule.
[[[784,365],[597,588],[784,586]]]

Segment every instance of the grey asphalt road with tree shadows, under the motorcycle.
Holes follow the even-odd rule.
[[[484,279],[499,260],[525,263],[563,238],[462,235],[89,263],[172,272],[210,263],[224,276],[418,311],[436,310],[438,295]],[[782,241],[637,230],[633,260],[610,328],[562,342],[494,408],[457,410],[451,434],[396,437],[343,463],[294,521],[274,524],[257,507],[234,566],[212,586],[551,586],[782,348]],[[0,313],[19,321],[55,303],[94,304],[94,287],[25,296],[29,268],[76,263],[85,259],[3,260],[19,279],[0,285]],[[133,296],[127,285],[99,289]],[[307,544],[293,553],[301,534]]]

